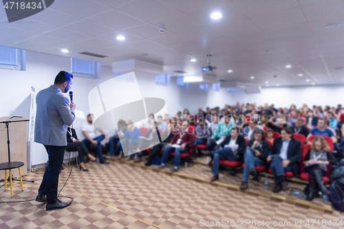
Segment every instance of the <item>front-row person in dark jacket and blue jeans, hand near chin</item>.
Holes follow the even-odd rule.
[[[255,166],[264,166],[266,157],[269,155],[270,146],[265,141],[265,133],[261,129],[256,129],[254,132],[255,138],[249,140],[244,154],[244,174],[241,179],[240,189],[248,188],[248,175],[255,177],[257,171]]]

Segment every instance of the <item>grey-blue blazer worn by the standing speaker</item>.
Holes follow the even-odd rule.
[[[50,146],[66,146],[67,126],[74,122],[74,110],[69,108],[69,99],[58,87],[39,91],[36,96],[36,122],[34,141]]]

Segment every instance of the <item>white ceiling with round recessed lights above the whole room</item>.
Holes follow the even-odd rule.
[[[223,17],[211,19],[215,11]],[[1,7],[0,45],[107,64],[135,58],[161,63],[171,75],[200,74],[212,54],[219,79],[261,86],[338,84],[344,83],[344,26],[325,28],[338,21],[344,21],[344,0],[55,0],[13,23]]]

